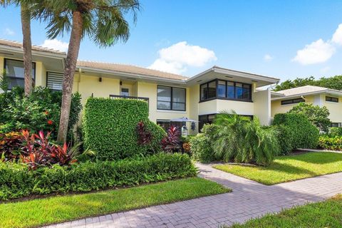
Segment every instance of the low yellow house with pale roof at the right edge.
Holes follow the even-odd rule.
[[[276,113],[286,113],[294,105],[301,102],[318,105],[319,107],[326,106],[330,112],[329,118],[332,126],[342,126],[342,91],[318,86],[301,86],[277,92],[272,91],[272,118]]]

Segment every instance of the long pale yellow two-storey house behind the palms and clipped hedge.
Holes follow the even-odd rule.
[[[35,86],[61,90],[66,53],[33,46]],[[0,40],[0,69],[6,69],[10,88],[24,85],[21,43]],[[204,123],[211,123],[222,110],[239,115],[257,116],[261,124],[271,120],[271,91],[257,90],[277,83],[253,73],[213,66],[191,78],[137,66],[95,61],[78,61],[73,92],[78,91],[83,104],[90,96],[103,98],[133,97],[148,100],[150,120],[170,125],[173,118],[198,120],[197,133]],[[190,123],[187,123],[190,129]]]

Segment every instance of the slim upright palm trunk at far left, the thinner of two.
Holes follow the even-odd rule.
[[[21,30],[24,49],[24,92],[28,96],[32,91],[31,15],[24,4],[21,4]]]

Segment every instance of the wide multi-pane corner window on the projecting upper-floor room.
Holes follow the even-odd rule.
[[[214,80],[202,84],[199,91],[201,101],[215,98],[252,101],[252,85],[246,83]]]

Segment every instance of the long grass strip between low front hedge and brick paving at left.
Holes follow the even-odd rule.
[[[81,195],[0,204],[0,227],[37,227],[83,217],[231,192],[199,177]]]

